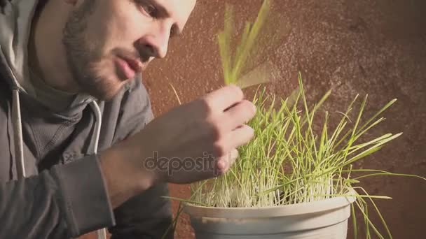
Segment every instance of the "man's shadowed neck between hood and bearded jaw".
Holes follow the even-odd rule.
[[[29,37],[29,67],[46,85],[63,92],[77,93],[78,86],[69,71],[62,29],[69,6],[64,1],[47,1],[34,15]]]

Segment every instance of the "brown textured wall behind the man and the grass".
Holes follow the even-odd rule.
[[[172,42],[167,59],[154,62],[145,74],[156,115],[177,106],[169,83],[184,102],[221,85],[215,34],[223,24],[224,2],[199,0],[184,36]],[[227,2],[238,7],[239,17],[254,16],[261,5],[261,0]],[[310,99],[334,89],[324,106],[329,110],[343,110],[357,93],[369,94],[366,114],[371,115],[397,98],[385,114],[387,120],[372,133],[403,131],[404,135],[359,166],[426,176],[426,1],[277,3],[276,10],[290,29],[275,49],[263,52],[283,74],[269,85],[270,91],[287,96],[301,71]],[[276,24],[280,27],[284,22]],[[363,182],[371,194],[393,198],[377,203],[394,238],[424,238],[426,182],[384,177]],[[170,189],[172,196],[188,196],[187,186]],[[176,238],[193,238],[187,217],[180,219]]]

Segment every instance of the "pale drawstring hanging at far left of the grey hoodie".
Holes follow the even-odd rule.
[[[22,139],[22,117],[20,109],[19,89],[13,89],[12,103],[12,124],[13,124],[13,142],[15,150],[15,163],[18,178],[25,178],[24,162],[24,140]]]

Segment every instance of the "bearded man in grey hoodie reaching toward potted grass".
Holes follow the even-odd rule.
[[[161,238],[172,218],[167,182],[226,172],[252,138],[254,106],[233,86],[153,119],[141,72],[165,57],[195,0],[0,6],[0,238],[102,228]],[[158,159],[213,164],[170,172]]]

